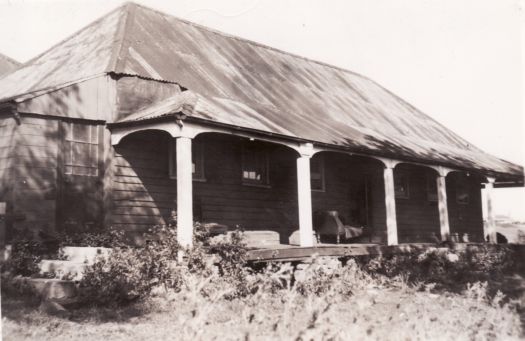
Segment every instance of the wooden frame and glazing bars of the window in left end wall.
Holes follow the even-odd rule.
[[[74,135],[75,126],[84,126],[87,127],[89,130],[88,138],[86,140],[82,140],[79,138],[76,138]],[[100,171],[100,160],[101,160],[101,140],[102,140],[102,134],[101,134],[101,126],[98,124],[90,124],[85,122],[73,122],[73,121],[64,121],[63,122],[63,129],[64,129],[64,142],[63,142],[63,174],[68,176],[88,176],[88,177],[98,177],[101,174]],[[95,137],[95,138],[94,138]],[[95,142],[93,142],[95,141]],[[74,145],[75,144],[81,144],[81,145],[87,145],[89,148],[89,153],[91,153],[91,150],[95,151],[94,157],[91,158],[91,155],[89,155],[89,165],[83,165],[75,163],[74,160]],[[69,157],[67,156],[69,154]],[[68,162],[70,160],[70,162]],[[75,172],[76,168],[85,168],[88,169],[88,174],[79,174]],[[93,171],[93,173],[92,173]]]

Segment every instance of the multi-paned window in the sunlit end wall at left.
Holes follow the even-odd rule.
[[[99,127],[66,123],[65,136],[65,174],[98,176]]]

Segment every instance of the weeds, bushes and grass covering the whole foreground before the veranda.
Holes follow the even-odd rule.
[[[6,335],[61,339],[518,339],[519,303],[491,287],[509,253],[429,249],[420,254],[250,268],[242,235],[202,234],[183,250],[170,228],[142,248],[115,247],[81,282],[98,303],[72,321],[16,304]],[[156,236],[156,237],[155,237]],[[179,251],[185,251],[183,262]],[[487,250],[488,252],[488,250]],[[492,252],[492,251],[490,251]],[[4,281],[3,281],[4,282]],[[126,304],[123,304],[126,303]],[[108,308],[110,307],[110,308]],[[25,309],[25,308],[24,308]],[[18,318],[15,316],[23,316]],[[29,336],[28,336],[29,335]]]

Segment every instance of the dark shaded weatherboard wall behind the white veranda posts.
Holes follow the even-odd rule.
[[[128,136],[115,147],[114,179],[111,188],[109,224],[129,231],[143,231],[166,224],[176,207],[176,180],[169,178],[169,141],[158,132]],[[205,134],[205,181],[194,181],[194,216],[246,230],[272,230],[283,243],[298,229],[296,154],[281,146],[270,148],[270,186],[246,186],[241,181],[240,138]],[[382,167],[377,163],[326,153],[325,190],[312,192],[313,212],[337,210],[350,225],[369,227],[369,240],[386,240]],[[401,164],[395,174],[407,174],[409,197],[396,198],[400,242],[431,242],[439,236],[437,201],[428,199],[427,177],[432,170]],[[363,191],[366,183],[367,211]],[[470,202],[455,202],[449,187],[451,233],[469,233],[472,240],[481,234],[479,184],[471,183]],[[477,188],[476,188],[477,186]]]

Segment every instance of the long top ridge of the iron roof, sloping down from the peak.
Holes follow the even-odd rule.
[[[181,21],[181,22],[183,22],[185,24],[195,26],[197,28],[203,29],[205,31],[208,31],[208,32],[211,32],[211,33],[214,33],[214,34],[219,34],[219,35],[224,36],[226,38],[239,40],[239,41],[251,44],[251,45],[255,45],[255,46],[259,46],[259,47],[262,47],[262,48],[265,48],[265,49],[268,49],[268,50],[272,50],[274,52],[285,54],[285,55],[288,55],[288,56],[291,56],[291,57],[294,57],[294,58],[300,58],[300,59],[306,60],[308,62],[316,63],[316,64],[319,64],[319,65],[322,65],[322,66],[327,66],[327,67],[330,67],[330,68],[333,68],[333,69],[337,69],[339,71],[348,72],[348,73],[354,74],[356,76],[359,76],[359,77],[371,80],[367,76],[364,76],[364,75],[362,75],[362,74],[360,74],[358,72],[355,72],[355,71],[352,71],[352,70],[349,70],[349,69],[345,69],[344,67],[333,65],[333,64],[329,64],[328,62],[323,62],[323,61],[320,61],[320,60],[317,60],[317,59],[301,56],[299,54],[288,52],[288,51],[285,51],[285,50],[281,50],[280,48],[273,47],[273,46],[270,46],[270,45],[266,45],[266,44],[263,44],[263,43],[260,43],[260,42],[248,39],[248,38],[239,37],[239,36],[233,35],[231,33],[220,31],[220,30],[215,29],[215,28],[207,27],[207,26],[204,26],[202,24],[195,23],[195,22],[190,21],[188,19],[184,19],[184,18],[181,18],[179,16],[163,12],[163,11],[155,9],[155,8],[144,6],[142,4],[137,4],[137,3],[132,2],[132,1],[126,2],[126,4],[127,5],[134,5],[136,7],[141,7],[143,9],[146,9],[146,10],[149,10],[149,11],[152,11],[152,12],[164,15],[164,16],[172,17],[172,18],[177,19],[177,20],[179,20],[179,21]]]

